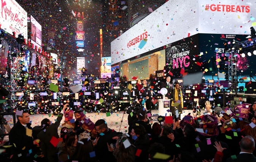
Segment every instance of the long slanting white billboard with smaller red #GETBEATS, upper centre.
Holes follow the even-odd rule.
[[[196,0],[168,1],[111,42],[111,64],[195,35],[197,29]],[[142,40],[146,44],[140,49]]]

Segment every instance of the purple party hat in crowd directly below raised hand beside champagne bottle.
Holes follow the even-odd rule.
[[[202,117],[203,124],[199,126],[199,128],[204,129],[204,133],[199,132],[200,135],[204,136],[215,136],[219,134],[219,131],[217,129],[218,126],[218,120],[215,116],[212,115],[204,115]]]

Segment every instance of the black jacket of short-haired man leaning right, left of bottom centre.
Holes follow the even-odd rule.
[[[95,146],[95,154],[100,162],[112,162],[114,159],[113,153],[108,151],[108,145],[116,143],[113,137],[117,136],[117,132],[109,129],[104,135],[99,135],[97,146]],[[108,145],[107,145],[108,143]]]

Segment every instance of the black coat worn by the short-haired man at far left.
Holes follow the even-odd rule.
[[[27,128],[32,129],[31,123],[27,124]],[[11,129],[9,140],[10,145],[13,145],[13,157],[11,158],[13,162],[32,161],[33,155],[30,154],[30,156],[27,156],[27,154],[33,148],[33,138],[27,135],[25,127],[19,121]],[[25,149],[23,149],[24,147]],[[21,156],[18,157],[18,154],[21,154]]]

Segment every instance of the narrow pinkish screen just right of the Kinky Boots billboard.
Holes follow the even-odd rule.
[[[33,16],[31,16],[31,40],[32,43],[36,43],[38,47],[41,47],[42,45],[42,27],[37,22],[37,20],[34,19]]]

